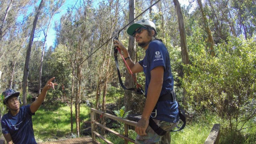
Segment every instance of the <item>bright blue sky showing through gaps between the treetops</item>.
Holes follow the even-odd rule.
[[[98,5],[98,1],[99,0],[95,0],[95,6]],[[188,0],[179,0],[180,5],[183,6],[188,5]],[[56,32],[54,30],[54,23],[55,21],[60,21],[60,18],[63,14],[66,14],[67,9],[71,8],[72,6],[74,6],[74,4],[76,3],[76,0],[66,0],[65,4],[60,8],[60,13],[56,14],[54,16],[54,19],[52,20],[52,24],[51,24],[51,28],[48,32],[47,38],[46,38],[46,45],[47,48],[49,48],[50,46],[54,46],[54,41],[56,38]],[[41,36],[40,38],[42,39],[43,36]],[[40,38],[38,38],[38,40],[40,40]]]

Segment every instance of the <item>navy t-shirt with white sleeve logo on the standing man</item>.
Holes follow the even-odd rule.
[[[167,48],[159,40],[150,42],[146,55],[143,60],[139,61],[139,64],[143,67],[144,74],[146,76],[145,93],[148,93],[148,86],[151,78],[151,70],[158,66],[164,67],[164,81],[162,84],[162,90],[160,96],[170,93],[173,90],[174,79],[171,71],[170,56]],[[170,95],[171,96],[171,95]],[[157,120],[166,122],[178,122],[178,103],[170,100],[160,101],[156,104]]]

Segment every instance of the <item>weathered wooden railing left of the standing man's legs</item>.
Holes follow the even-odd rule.
[[[110,118],[112,120],[116,120],[118,122],[123,122],[124,123],[124,135],[119,134],[118,132],[100,124],[97,120],[96,120],[96,114],[99,114],[100,117],[105,116],[107,118]],[[112,114],[108,114],[105,112],[102,112],[100,110],[96,110],[94,108],[91,108],[91,128],[92,128],[92,141],[96,144],[100,144],[100,142],[98,142],[96,140],[96,136],[98,138],[101,138],[102,140],[104,140],[106,143],[108,144],[113,144],[112,142],[110,142],[109,140],[107,140],[106,138],[104,138],[104,136],[101,136],[97,131],[96,131],[96,126],[99,126],[101,128],[103,128],[104,130],[107,130],[108,132],[111,132],[112,134],[115,134],[116,136],[119,136],[120,138],[124,139],[124,144],[128,144],[128,142],[133,142],[135,143],[135,140],[133,140],[132,138],[128,137],[128,129],[129,129],[129,125],[130,126],[136,126],[137,122],[131,121],[131,120],[127,120],[127,119],[123,119],[123,118],[119,118],[117,116],[114,116]]]

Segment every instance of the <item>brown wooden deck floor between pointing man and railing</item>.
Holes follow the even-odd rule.
[[[54,142],[42,142],[38,144],[94,144],[90,136],[84,136],[80,138],[72,138],[68,140],[59,140]]]

